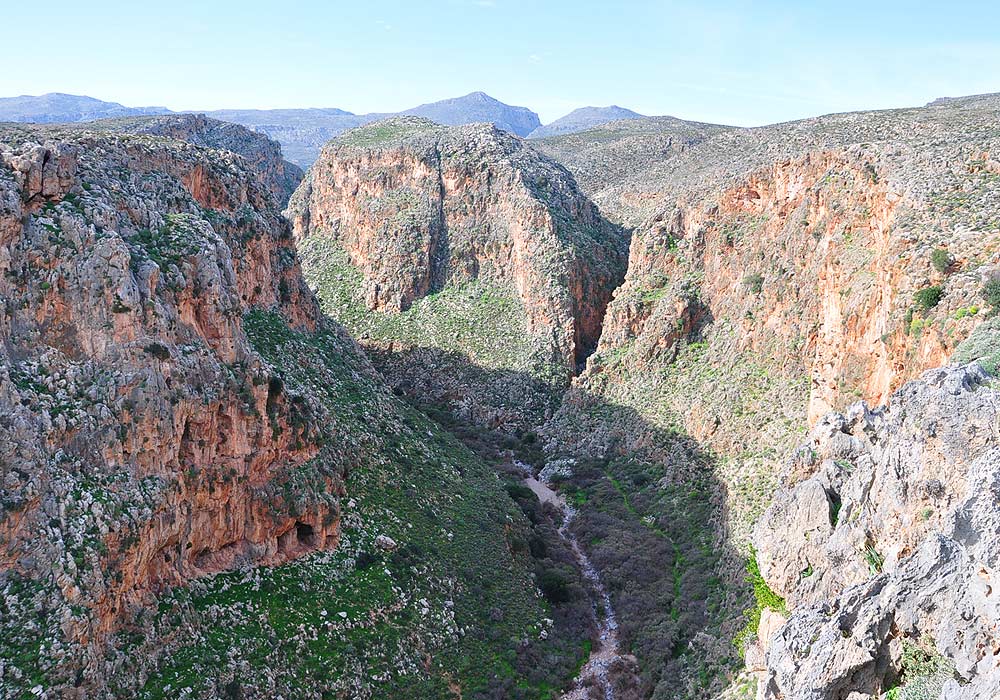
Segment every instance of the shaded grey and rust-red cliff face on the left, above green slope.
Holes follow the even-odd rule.
[[[36,604],[84,644],[167,586],[336,543],[339,480],[284,486],[317,450],[309,402],[243,332],[254,307],[319,317],[246,160],[4,128],[0,273],[8,593],[40,586]]]

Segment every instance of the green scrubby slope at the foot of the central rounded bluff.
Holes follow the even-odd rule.
[[[323,311],[368,346],[379,369],[393,384],[406,384],[418,404],[457,400],[474,407],[473,422],[503,415],[520,430],[554,410],[565,368],[543,338],[528,332],[510,290],[471,281],[418,299],[402,313],[380,313],[362,301],[361,273],[335,241],[315,236],[299,250]],[[456,398],[463,396],[472,400]]]

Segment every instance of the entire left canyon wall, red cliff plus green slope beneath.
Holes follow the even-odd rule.
[[[530,525],[320,315],[246,159],[3,127],[0,268],[0,695],[539,697],[572,673]]]

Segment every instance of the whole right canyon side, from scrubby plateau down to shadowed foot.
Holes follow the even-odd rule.
[[[636,166],[642,182],[590,181],[639,223],[598,349],[541,431],[549,457],[577,461],[563,488],[584,492],[592,559],[728,591],[716,617],[687,625],[694,649],[658,658],[678,638],[645,622],[667,582],[621,581],[616,605],[648,601],[620,613],[647,674],[726,659],[749,602],[752,524],[808,426],[947,361],[997,303],[985,286],[1000,277],[997,124],[995,110],[965,106],[834,115],[718,133]],[[648,157],[636,148],[622,158]],[[585,167],[571,165],[581,178]],[[967,359],[995,353],[978,335]],[[676,520],[687,533],[665,527]],[[623,552],[604,536],[615,528],[643,544]],[[718,556],[631,553],[664,539],[707,541]],[[673,697],[661,683],[653,695]]]

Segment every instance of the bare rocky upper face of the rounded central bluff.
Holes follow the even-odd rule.
[[[526,332],[569,371],[597,343],[625,239],[571,176],[493,126],[394,119],[332,141],[289,206],[299,241],[327,237],[399,312],[471,281],[512,291]]]

